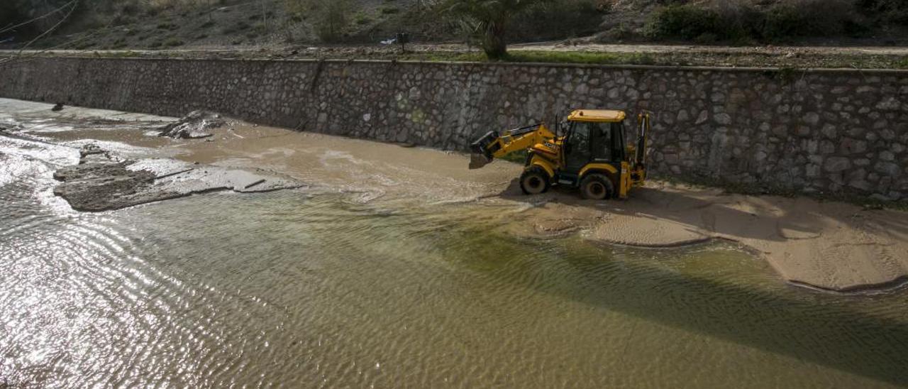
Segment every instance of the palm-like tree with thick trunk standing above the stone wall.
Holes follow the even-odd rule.
[[[479,46],[490,59],[508,55],[507,31],[511,16],[544,0],[448,0],[445,11],[479,35]]]

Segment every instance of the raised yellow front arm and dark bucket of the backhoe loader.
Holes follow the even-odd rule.
[[[544,144],[554,139],[555,134],[542,123],[515,128],[500,135],[495,131],[489,131],[469,146],[471,152],[469,168],[479,169],[489,165],[495,158],[527,150],[533,145]]]

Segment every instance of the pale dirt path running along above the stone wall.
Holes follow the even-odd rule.
[[[515,61],[583,62],[629,65],[704,65],[818,68],[908,68],[904,46],[706,46],[603,45],[581,41],[510,45]],[[548,53],[548,55],[547,55]],[[586,55],[571,58],[569,53]],[[522,54],[522,55],[521,55]],[[4,57],[110,56],[149,58],[271,58],[271,59],[397,59],[480,61],[477,48],[460,44],[413,44],[401,53],[397,45],[332,46],[187,46],[173,50],[50,50],[19,53],[0,50]],[[559,55],[561,55],[559,57]]]

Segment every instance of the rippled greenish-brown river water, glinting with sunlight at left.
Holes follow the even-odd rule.
[[[52,192],[75,161],[0,136],[0,387],[908,384],[908,294],[796,288],[733,244],[310,189],[79,213]]]

